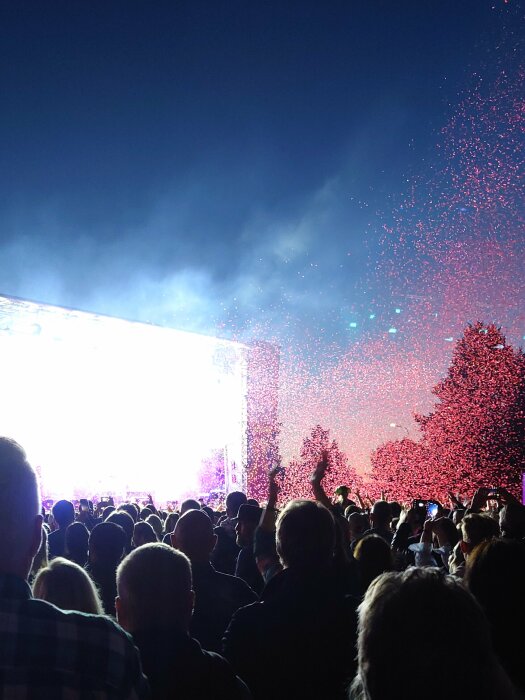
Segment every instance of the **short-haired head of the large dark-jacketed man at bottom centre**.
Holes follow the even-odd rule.
[[[290,501],[276,524],[277,553],[284,567],[315,570],[329,566],[335,551],[332,513],[316,501]]]

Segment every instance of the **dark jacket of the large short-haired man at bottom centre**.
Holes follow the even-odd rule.
[[[355,673],[356,601],[331,571],[285,569],[238,610],[223,650],[254,698],[346,698]]]

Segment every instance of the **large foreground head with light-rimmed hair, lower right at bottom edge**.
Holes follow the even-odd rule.
[[[376,578],[359,606],[357,646],[354,687],[367,700],[437,700],[443,697],[441,684],[431,680],[437,668],[446,671],[451,700],[509,697],[483,612],[439,569],[412,567]],[[407,659],[410,673],[400,673]]]

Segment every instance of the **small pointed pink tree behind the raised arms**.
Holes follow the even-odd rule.
[[[353,490],[361,486],[361,478],[348,465],[347,456],[339,449],[337,441],[330,439],[330,430],[316,425],[303,440],[300,458],[293,459],[286,469],[280,492],[283,502],[292,498],[312,498],[309,478],[323,451],[328,452],[329,468],[323,480],[323,487],[329,497],[332,497],[338,486],[349,486]]]

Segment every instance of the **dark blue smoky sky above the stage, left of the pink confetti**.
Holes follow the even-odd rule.
[[[503,0],[1,3],[0,292],[338,337],[377,212],[509,23]]]

